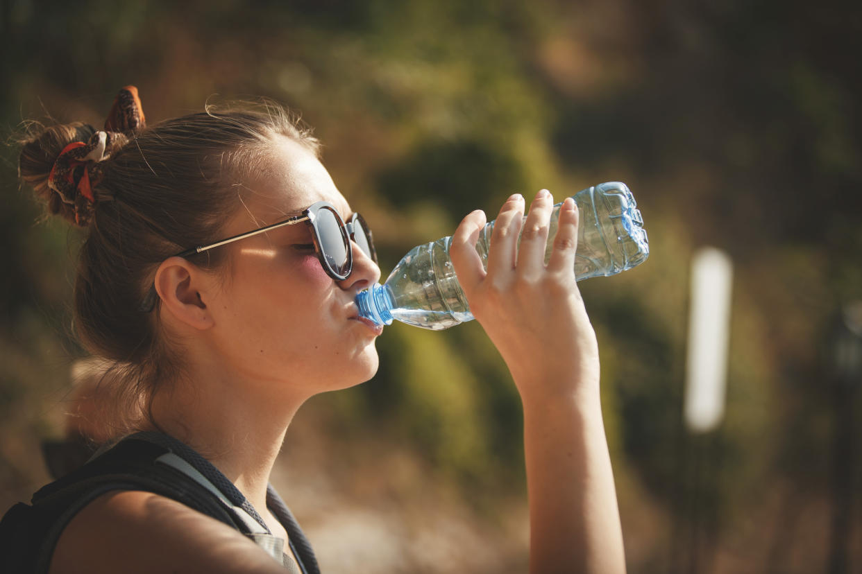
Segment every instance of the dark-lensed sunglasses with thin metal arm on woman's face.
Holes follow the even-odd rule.
[[[232,244],[240,239],[251,238],[266,231],[272,231],[279,227],[287,225],[297,225],[305,223],[311,227],[311,240],[315,245],[315,253],[317,259],[321,262],[321,267],[326,274],[332,277],[335,281],[344,281],[353,272],[353,249],[350,242],[359,245],[359,249],[369,256],[373,262],[377,262],[377,250],[374,249],[374,241],[372,231],[365,223],[365,219],[359,213],[353,213],[347,223],[341,219],[338,211],[328,201],[318,201],[312,204],[308,209],[303,210],[303,213],[295,215],[284,221],[265,225],[252,231],[246,231],[234,237],[222,239],[212,244],[200,245],[192,247],[189,250],[181,251],[176,257],[190,257],[221,247],[222,245]],[[150,292],[141,304],[141,312],[151,312],[155,308],[156,293],[155,285],[150,287]]]

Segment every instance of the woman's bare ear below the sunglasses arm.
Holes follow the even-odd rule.
[[[156,293],[166,312],[197,330],[209,329],[214,321],[204,300],[212,288],[212,278],[182,257],[171,257],[159,265]]]

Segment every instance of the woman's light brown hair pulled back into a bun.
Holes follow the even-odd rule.
[[[33,124],[21,139],[19,177],[49,213],[75,223],[74,208],[48,187],[60,152],[88,141],[84,123]],[[78,255],[74,330],[93,355],[109,361],[103,382],[122,417],[117,432],[151,415],[152,398],[183,376],[180,345],[142,312],[159,263],[206,244],[236,213],[244,186],[271,157],[273,140],[293,139],[319,154],[318,141],[288,110],[273,102],[206,108],[138,133],[110,133],[107,159],[98,164],[94,207]],[[223,263],[220,250],[200,256],[205,268]],[[197,262],[197,261],[196,261]],[[158,301],[157,301],[158,306]]]

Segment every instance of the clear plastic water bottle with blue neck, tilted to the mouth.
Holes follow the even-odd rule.
[[[601,183],[574,195],[578,204],[578,250],[575,280],[616,275],[647,260],[649,244],[640,210],[625,183]],[[545,262],[551,258],[559,219],[553,208]],[[526,217],[525,217],[526,219]],[[494,221],[479,232],[476,250],[487,268]],[[520,238],[519,238],[520,241]],[[441,330],[472,320],[470,306],[449,259],[451,237],[417,245],[403,257],[384,285],[376,283],[359,293],[359,315],[375,324],[392,320]]]

